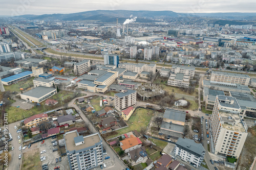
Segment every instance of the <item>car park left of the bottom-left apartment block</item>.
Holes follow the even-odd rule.
[[[56,138],[55,138],[56,139]],[[52,138],[46,139],[45,142],[43,144],[41,144],[41,142],[38,142],[37,146],[39,148],[39,151],[44,151],[46,150],[46,153],[40,154],[40,157],[42,156],[46,156],[46,160],[42,161],[41,164],[48,164],[49,169],[54,169],[54,167],[56,166],[60,166],[59,169],[70,169],[69,167],[69,162],[68,162],[68,157],[67,156],[63,156],[61,157],[61,162],[56,163],[56,158],[59,159],[60,157],[60,151],[59,151],[59,147],[58,145],[56,145],[55,147],[52,146],[52,142],[53,140]],[[58,151],[53,152],[52,150],[57,148]]]

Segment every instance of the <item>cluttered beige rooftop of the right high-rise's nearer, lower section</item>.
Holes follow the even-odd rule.
[[[247,132],[238,114],[219,112],[222,127],[232,131]]]

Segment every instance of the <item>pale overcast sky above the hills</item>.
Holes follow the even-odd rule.
[[[0,15],[75,13],[91,10],[170,10],[174,12],[255,12],[255,0],[12,0],[1,1]]]

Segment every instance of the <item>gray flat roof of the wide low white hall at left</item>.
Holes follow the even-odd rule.
[[[41,98],[41,96],[44,96],[52,91],[56,90],[55,88],[51,87],[45,87],[45,86],[38,86],[32,90],[29,90],[27,92],[24,92],[24,95],[28,95],[34,98]]]

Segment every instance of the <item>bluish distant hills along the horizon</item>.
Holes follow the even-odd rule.
[[[119,21],[124,21],[130,16],[137,16],[137,22],[152,22],[154,18],[160,16],[166,17],[214,17],[223,19],[251,19],[256,17],[256,13],[176,13],[173,11],[131,11],[131,10],[94,10],[85,11],[71,14],[44,14],[44,15],[20,15],[13,17],[14,19],[25,18],[30,20],[99,20],[102,22],[113,22],[115,18],[119,18]],[[144,18],[144,19],[143,19]]]

